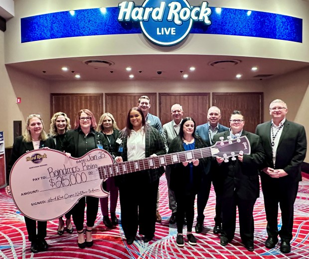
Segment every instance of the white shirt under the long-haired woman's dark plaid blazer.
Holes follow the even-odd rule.
[[[145,158],[145,138],[146,133],[144,127],[139,131],[131,130],[131,135],[128,137],[128,161]]]

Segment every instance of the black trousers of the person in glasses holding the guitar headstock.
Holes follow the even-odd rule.
[[[254,239],[254,220],[253,208],[256,198],[252,200],[243,200],[234,195],[221,198],[222,205],[222,232],[228,240],[232,240],[236,229],[236,207],[238,207],[240,237],[243,242]]]

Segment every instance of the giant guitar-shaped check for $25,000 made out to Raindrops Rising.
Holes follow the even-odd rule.
[[[83,196],[106,197],[102,182],[109,177],[209,156],[250,154],[246,136],[219,141],[211,147],[114,164],[109,152],[93,149],[79,158],[53,149],[36,149],[14,163],[10,188],[18,210],[34,220],[53,220],[68,212]]]

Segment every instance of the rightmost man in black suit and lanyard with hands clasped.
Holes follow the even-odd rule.
[[[274,248],[281,238],[280,251],[289,253],[293,238],[294,202],[302,180],[301,165],[306,157],[307,139],[304,126],[286,119],[288,107],[274,100],[269,107],[272,120],[260,124],[256,134],[261,137],[266,159],[261,167],[268,238],[266,248]],[[282,227],[278,231],[278,204]]]

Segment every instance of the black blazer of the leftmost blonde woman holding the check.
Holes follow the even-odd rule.
[[[32,141],[31,142],[25,142],[22,140],[22,136],[17,136],[14,140],[12,154],[10,156],[10,159],[8,161],[8,173],[6,174],[6,182],[9,181],[9,174],[11,172],[11,169],[16,162],[16,160],[22,156],[24,153],[34,150]],[[49,137],[46,140],[40,141],[40,147],[49,147],[52,149],[56,148],[55,142],[53,138]]]

